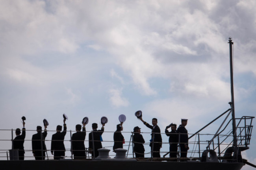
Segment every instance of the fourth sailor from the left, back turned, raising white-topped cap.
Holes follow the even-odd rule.
[[[85,159],[85,146],[84,140],[86,136],[85,122],[83,122],[83,131],[81,131],[82,126],[80,124],[76,125],[76,133],[72,135],[72,154],[74,154],[74,159]]]

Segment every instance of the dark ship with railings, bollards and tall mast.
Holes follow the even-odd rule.
[[[114,158],[109,157],[109,149],[102,148],[99,149],[100,154],[96,158],[87,157],[86,159],[74,160],[71,155],[71,159],[17,160],[15,158],[15,152],[17,155],[17,151],[11,149],[9,150],[9,152],[6,152],[7,160],[0,160],[1,169],[55,170],[56,168],[58,168],[61,170],[70,170],[85,168],[90,170],[100,170],[106,168],[111,170],[156,170],[158,168],[161,168],[165,170],[241,170],[241,168],[245,164],[248,164],[256,168],[254,164],[251,164],[246,159],[243,159],[241,154],[243,151],[249,149],[253,127],[252,120],[254,119],[254,117],[235,117],[232,66],[233,42],[231,37],[229,38],[228,43],[230,47],[231,102],[228,103],[230,105],[230,108],[221,113],[214,120],[206,124],[204,127],[199,129],[196,133],[193,133],[189,136],[189,139],[195,140],[191,142],[195,146],[195,148],[193,148],[191,151],[191,155],[193,153],[194,155],[198,155],[197,157],[181,158],[179,157],[180,148],[178,148],[177,158],[166,157],[169,154],[169,152],[166,152],[161,158],[152,157],[152,152],[151,157],[135,158],[132,141],[129,143],[128,150],[117,149]],[[224,115],[226,117],[224,117]],[[202,130],[209,127],[213,122],[215,122],[221,117],[224,117],[224,120],[217,129],[215,134],[200,134]],[[209,136],[210,139],[205,139],[206,137]],[[132,156],[128,157],[130,145],[132,148]]]

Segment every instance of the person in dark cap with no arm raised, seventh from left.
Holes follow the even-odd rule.
[[[143,139],[143,136],[140,134],[141,133],[141,128],[138,126],[134,127],[134,136],[133,136],[133,141],[134,141],[134,152],[135,152],[135,157],[144,157],[144,146],[143,144],[145,143],[145,140]]]

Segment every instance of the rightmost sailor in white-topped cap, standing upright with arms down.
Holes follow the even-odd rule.
[[[180,133],[180,157],[187,157],[187,150],[189,150],[186,125],[187,119],[181,119],[181,124],[177,129],[177,133]]]

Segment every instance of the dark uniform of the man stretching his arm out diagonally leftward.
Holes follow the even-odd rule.
[[[161,130],[159,128],[159,126],[151,126],[150,124],[148,124],[147,122],[144,122],[144,124],[152,129],[152,133],[151,133],[151,140],[150,140],[150,144],[149,146],[151,147],[151,151],[152,151],[152,142],[153,142],[153,136],[154,136],[154,146],[153,146],[153,157],[160,157],[160,148],[162,146],[162,137],[161,137]],[[154,134],[155,133],[155,134]]]

